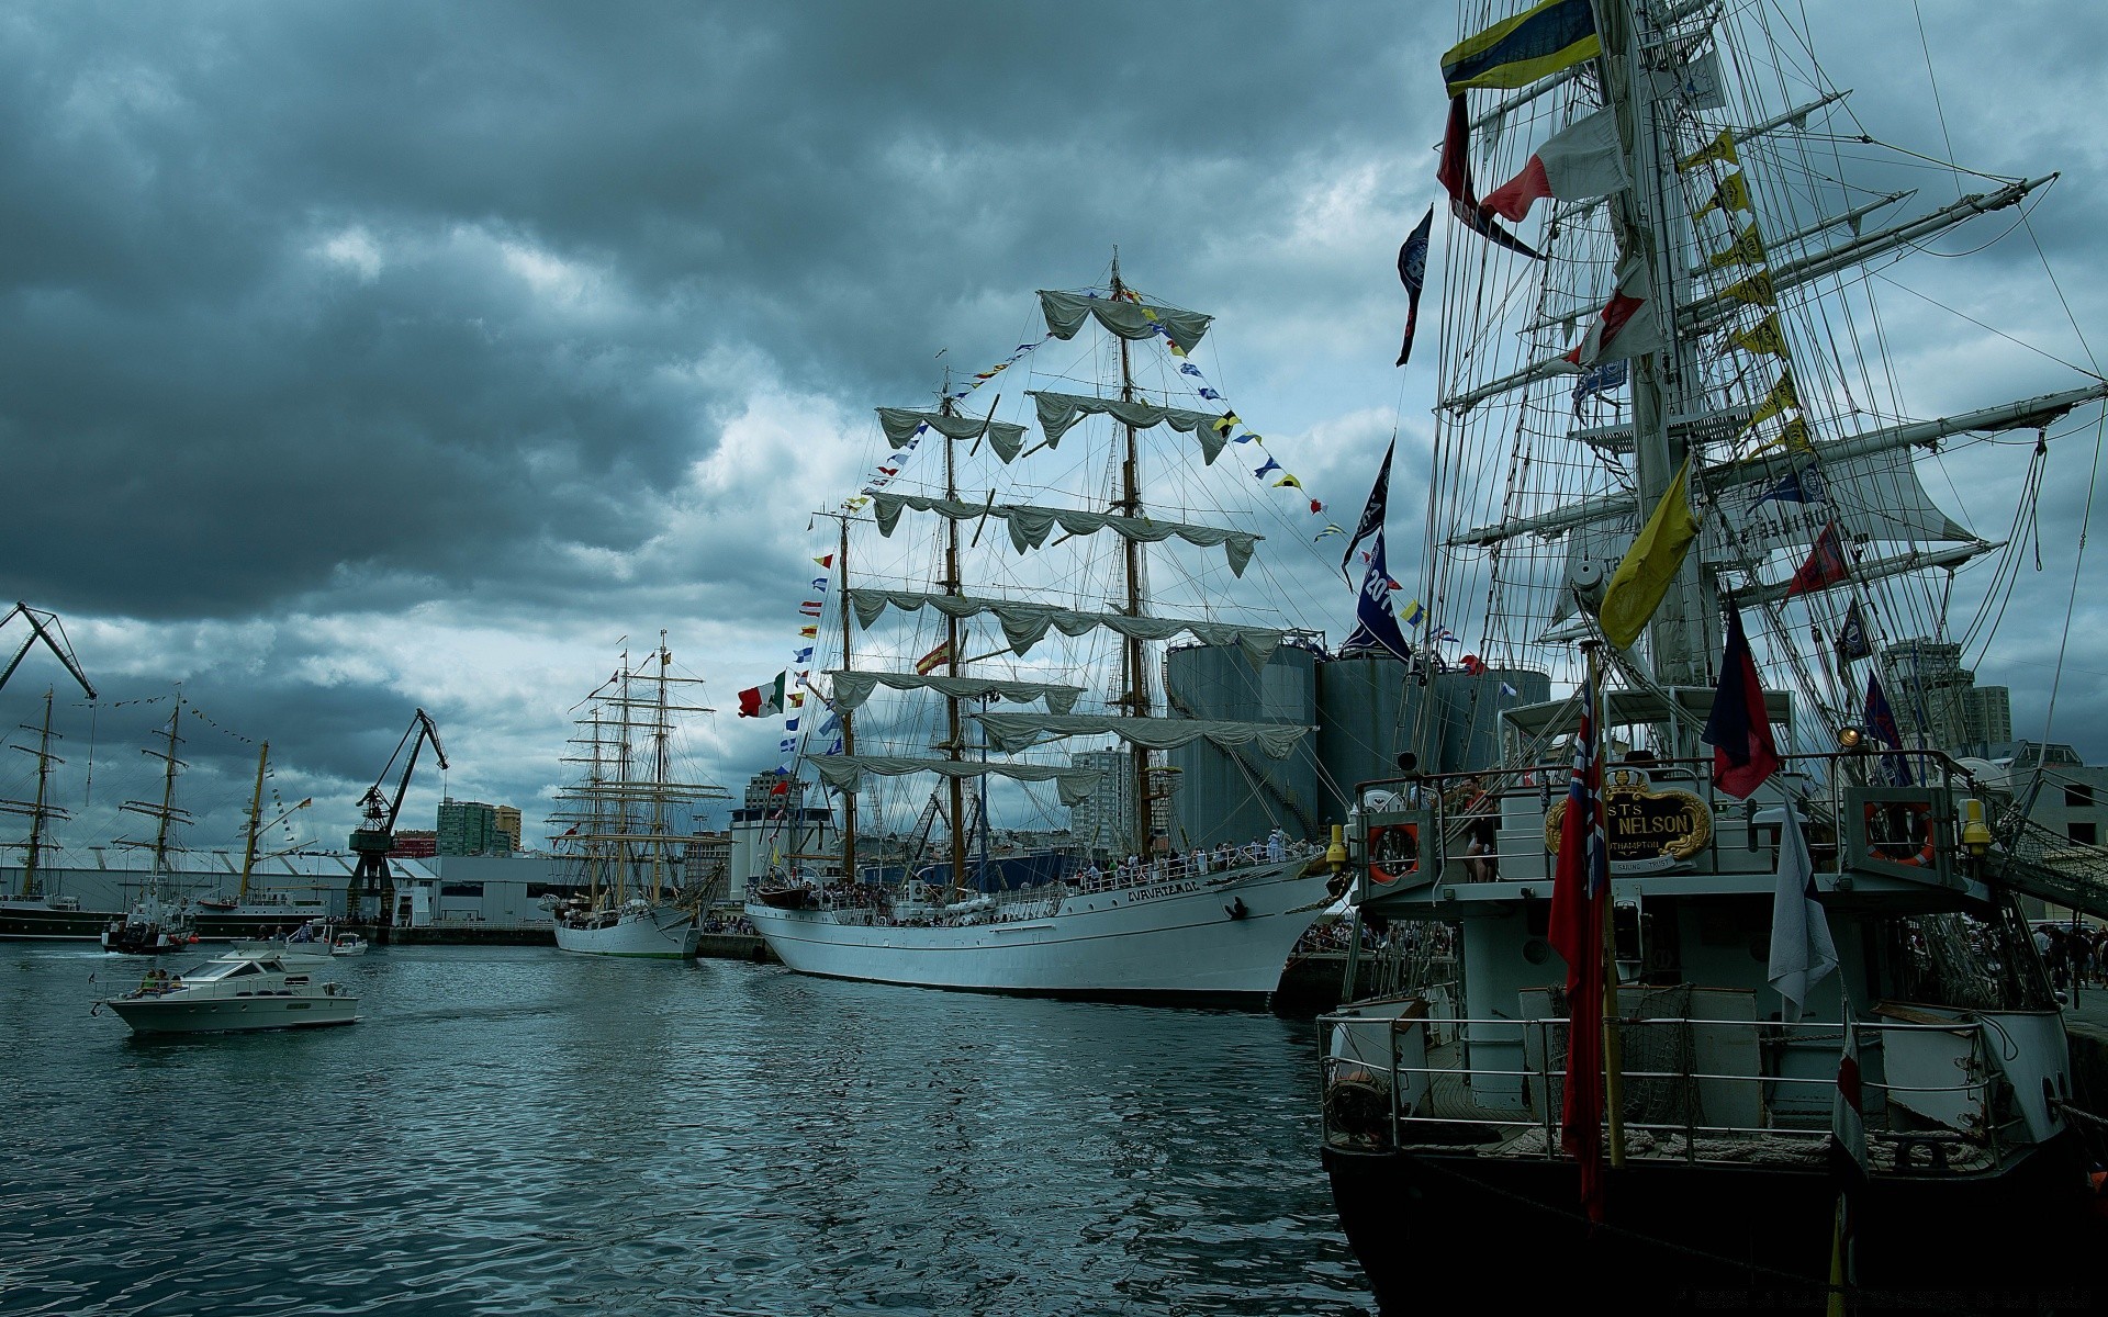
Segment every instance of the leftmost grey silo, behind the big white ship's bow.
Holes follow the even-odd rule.
[[[1318,655],[1282,645],[1265,668],[1252,668],[1235,645],[1187,645],[1164,660],[1172,716],[1237,723],[1318,723]],[[1305,735],[1288,759],[1269,759],[1256,744],[1225,750],[1197,740],[1170,750],[1178,769],[1172,794],[1172,845],[1191,849],[1244,843],[1282,828],[1288,837],[1322,834],[1332,818],[1318,794],[1318,748]]]

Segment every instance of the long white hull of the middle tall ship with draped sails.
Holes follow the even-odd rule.
[[[1307,860],[1242,874],[1071,891],[1029,919],[913,927],[862,912],[778,910],[746,919],[799,974],[919,988],[1138,1001],[1265,1001],[1296,938],[1326,906]],[[1054,906],[1054,898],[1046,898]]]

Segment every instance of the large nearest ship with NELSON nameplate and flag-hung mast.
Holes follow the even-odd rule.
[[[1488,662],[1579,683],[1592,643],[1606,689],[1507,710],[1499,763],[1370,784],[1351,824],[1358,919],[1448,925],[1389,946],[1455,938],[1461,995],[1455,1020],[1429,1018],[1448,992],[1324,1020],[1324,1165],[1383,1311],[1423,1306],[1436,1264],[1507,1304],[1570,1304],[1583,1279],[1636,1309],[1817,1311],[1832,1285],[1851,1311],[2097,1300],[2070,1260],[2100,1256],[2100,1121],[2015,893],[2108,910],[2108,856],[1950,759],[1952,691],[1912,657],[1948,643],[1954,573],[2000,548],[1916,455],[2038,432],[2032,485],[2108,388],[1912,419],[1866,280],[2045,179],[1910,209],[1840,177],[1882,152],[1830,126],[1847,93],[1777,6],[1471,0],[1459,36],[1421,596]],[[1501,209],[1471,171],[1516,179]],[[1735,615],[1762,681],[1745,710],[1783,759],[1754,794],[1714,746],[1735,742],[1714,712]],[[1568,1016],[1554,950],[1577,754],[1604,775],[1606,1026]],[[1484,792],[1448,790],[1463,773]],[[1602,1058],[1575,1068],[1602,1119],[1566,1110],[1568,1054]]]

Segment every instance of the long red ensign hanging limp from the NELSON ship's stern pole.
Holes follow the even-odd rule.
[[[1581,1165],[1581,1203],[1602,1220],[1602,921],[1611,906],[1604,849],[1602,763],[1596,756],[1596,666],[1589,662],[1575,731],[1560,858],[1551,877],[1554,950],[1566,959],[1566,1094],[1560,1146]]]

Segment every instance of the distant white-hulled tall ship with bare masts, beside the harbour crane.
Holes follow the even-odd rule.
[[[590,712],[573,740],[582,765],[552,815],[569,824],[554,837],[573,887],[557,904],[557,946],[599,957],[687,959],[702,936],[702,896],[685,889],[685,847],[694,841],[694,809],[729,792],[677,775],[679,727],[685,714],[710,712],[683,704],[702,685],[675,676],[666,632],[632,666],[624,651],[616,674],[588,697]]]

